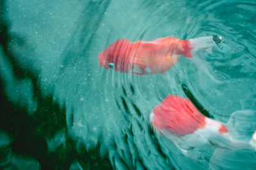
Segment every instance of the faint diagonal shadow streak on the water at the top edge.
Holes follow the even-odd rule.
[[[77,28],[72,33],[72,39],[67,43],[66,50],[63,52],[63,68],[75,66],[76,62],[84,58],[90,60],[88,53],[90,53],[90,46],[93,46],[93,38],[96,35],[100,22],[102,21],[104,12],[108,9],[110,0],[93,2],[90,1],[88,5],[84,6],[83,11],[77,19]],[[104,41],[102,41],[104,42]]]

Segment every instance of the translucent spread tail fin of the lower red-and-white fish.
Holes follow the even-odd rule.
[[[216,148],[210,169],[255,169],[256,111],[241,110],[232,113],[227,123],[230,143]],[[225,134],[223,134],[225,135]],[[219,140],[220,141],[220,140]],[[225,167],[225,168],[224,168]]]

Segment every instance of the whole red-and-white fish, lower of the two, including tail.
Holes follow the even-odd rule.
[[[228,124],[224,124],[202,115],[189,99],[170,95],[154,108],[150,114],[150,123],[156,132],[172,140],[184,154],[191,148],[200,148],[203,145],[256,150],[256,133],[252,136],[256,122],[250,124],[247,121],[242,124],[241,113],[243,117],[255,117],[255,111],[235,112]],[[239,138],[243,135],[236,131],[237,125],[244,127],[246,132],[248,129],[253,130],[250,134],[252,138],[248,140],[244,140],[245,137]]]

